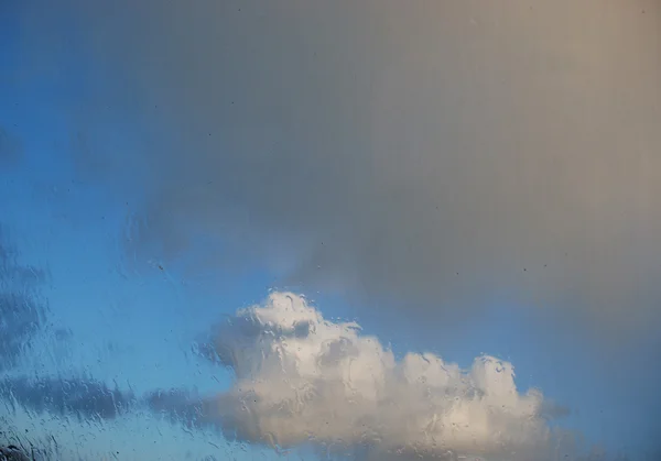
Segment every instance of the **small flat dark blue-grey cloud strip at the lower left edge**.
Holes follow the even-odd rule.
[[[136,398],[89,378],[8,377],[0,381],[0,398],[37,413],[76,415],[83,419],[113,419]]]

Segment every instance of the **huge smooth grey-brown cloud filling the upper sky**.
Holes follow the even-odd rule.
[[[501,301],[608,338],[659,319],[657,1],[25,12],[25,63],[72,21],[83,37],[72,120],[139,127],[141,155],[95,161],[86,138],[79,168],[142,172],[130,253],[210,235],[219,266],[257,262],[425,325]]]

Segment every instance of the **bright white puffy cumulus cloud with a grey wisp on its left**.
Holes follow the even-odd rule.
[[[543,460],[559,446],[549,404],[517,388],[511,363],[485,355],[462,370],[432,353],[397,359],[358,325],[326,320],[291,293],[238,310],[199,350],[234,370],[232,387],[199,399],[155,393],[151,406],[230,438],[373,460]]]

